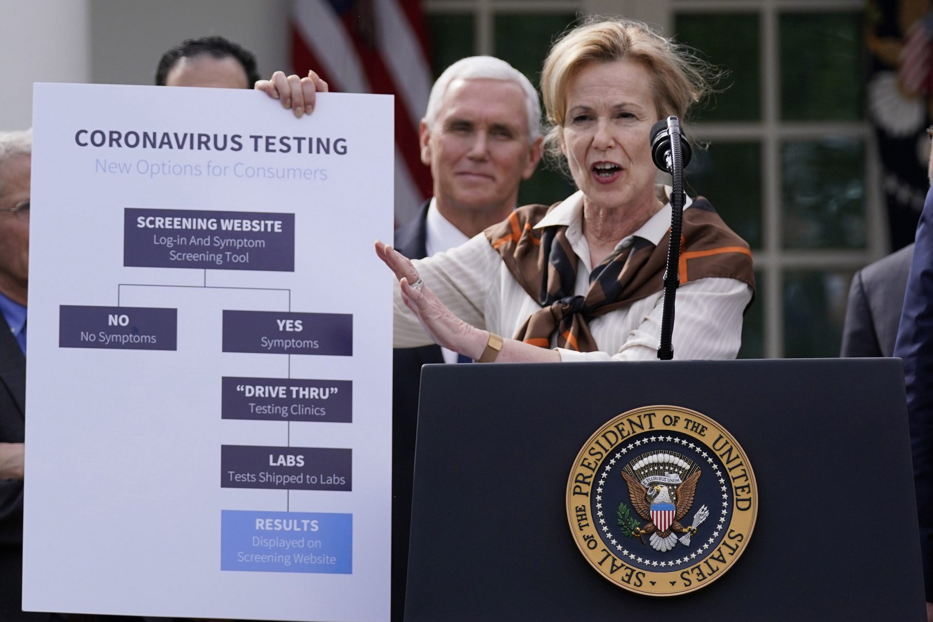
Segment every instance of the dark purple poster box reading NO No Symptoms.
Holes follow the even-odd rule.
[[[60,348],[175,350],[178,311],[146,307],[59,307]]]

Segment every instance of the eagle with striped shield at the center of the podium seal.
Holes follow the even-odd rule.
[[[675,451],[653,451],[636,458],[621,471],[629,489],[635,512],[648,521],[642,526],[632,518],[625,504],[619,508],[619,524],[629,537],[648,535],[648,543],[655,550],[666,552],[677,544],[675,534],[683,534],[680,542],[689,545],[690,536],[709,516],[705,505],[693,516],[693,524],[685,527],[680,520],[687,516],[693,505],[693,495],[702,471],[700,467]]]

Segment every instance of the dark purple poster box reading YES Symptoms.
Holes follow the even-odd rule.
[[[223,351],[353,356],[353,315],[224,311]]]

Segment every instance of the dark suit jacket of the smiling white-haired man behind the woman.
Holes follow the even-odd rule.
[[[396,229],[396,250],[409,259],[427,256],[425,236],[428,202],[418,217]],[[405,612],[405,579],[408,574],[411,528],[411,481],[414,477],[414,438],[418,424],[418,390],[421,366],[443,363],[436,345],[397,348],[392,372],[392,619]]]

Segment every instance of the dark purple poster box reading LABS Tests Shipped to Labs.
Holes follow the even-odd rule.
[[[221,445],[220,487],[352,491],[353,449]]]

